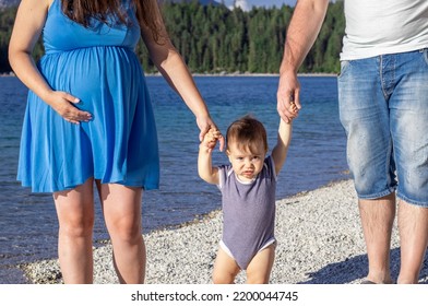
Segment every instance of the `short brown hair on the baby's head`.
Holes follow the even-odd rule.
[[[239,149],[254,152],[255,148],[263,143],[268,152],[268,136],[262,122],[250,115],[234,121],[226,132],[226,149],[229,150],[229,143],[235,142]]]

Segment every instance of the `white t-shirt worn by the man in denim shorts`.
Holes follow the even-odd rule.
[[[341,60],[428,47],[428,0],[345,0]]]

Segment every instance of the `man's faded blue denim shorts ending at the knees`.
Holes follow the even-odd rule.
[[[360,199],[428,208],[428,49],[343,61],[347,162]]]

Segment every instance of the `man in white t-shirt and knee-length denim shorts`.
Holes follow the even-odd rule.
[[[328,0],[298,0],[277,91],[280,116],[299,102],[297,70],[320,31]],[[344,0],[338,103],[358,196],[369,273],[392,283],[391,231],[399,199],[401,270],[417,283],[428,244],[428,1]]]

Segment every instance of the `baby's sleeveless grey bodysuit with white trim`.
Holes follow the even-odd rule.
[[[219,168],[223,202],[222,248],[246,270],[252,258],[275,243],[276,174],[271,156],[251,183],[238,180],[231,165]]]

